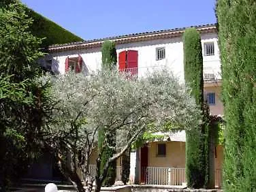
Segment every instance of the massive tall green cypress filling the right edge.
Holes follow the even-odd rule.
[[[256,189],[256,1],[219,0],[225,191]]]

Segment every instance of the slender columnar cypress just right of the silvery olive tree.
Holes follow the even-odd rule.
[[[185,30],[183,35],[185,82],[191,95],[204,111],[204,78],[201,37],[195,28]],[[202,119],[206,121],[206,119]],[[206,187],[208,182],[208,134],[206,123],[186,131],[186,175],[191,188]]]

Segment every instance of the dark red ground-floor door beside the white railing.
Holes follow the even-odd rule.
[[[148,167],[148,146],[140,148],[140,182],[146,182],[146,167]]]

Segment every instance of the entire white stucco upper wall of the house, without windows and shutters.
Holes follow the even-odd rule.
[[[206,70],[220,71],[221,63],[219,60],[219,48],[216,33],[207,33],[202,35],[202,48],[204,51],[204,42],[214,42],[214,56],[204,56],[204,67]],[[156,60],[156,48],[165,48],[165,59]],[[158,69],[171,70],[175,76],[184,82],[183,68],[183,43],[182,37],[174,37],[170,39],[156,39],[145,42],[133,42],[129,44],[118,44],[116,46],[117,54],[123,50],[138,50],[138,76],[144,76],[148,71]],[[60,74],[65,73],[65,59],[67,57],[78,57],[81,55],[84,64],[89,72],[96,71],[101,68],[101,51],[100,48],[90,48],[83,50],[71,50],[49,54],[46,60],[52,59],[52,69],[59,71]],[[41,61],[44,65],[44,61]]]

